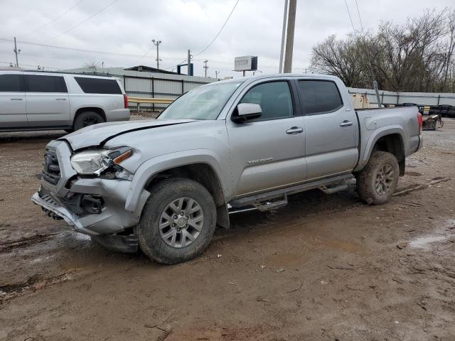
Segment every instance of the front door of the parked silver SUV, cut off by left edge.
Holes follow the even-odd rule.
[[[22,75],[0,75],[0,129],[27,126]]]

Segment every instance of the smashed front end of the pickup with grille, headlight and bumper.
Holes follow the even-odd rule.
[[[134,227],[149,193],[143,190],[137,211],[125,210],[133,174],[121,163],[132,153],[128,147],[73,153],[68,142],[51,141],[40,188],[31,200],[109,249],[136,251]]]

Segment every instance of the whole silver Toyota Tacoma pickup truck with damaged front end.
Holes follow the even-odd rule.
[[[417,107],[354,110],[327,75],[267,75],[198,87],[158,119],[97,124],[51,141],[32,200],[110,249],[164,264],[200,254],[230,210],[357,179],[380,205],[422,145]]]

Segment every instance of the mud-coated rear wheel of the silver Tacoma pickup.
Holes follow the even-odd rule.
[[[387,166],[390,166],[392,174],[387,171],[388,176],[384,177],[382,173],[388,169]],[[382,205],[395,192],[399,175],[400,168],[395,156],[385,151],[374,151],[371,153],[367,165],[358,175],[358,195],[368,205]],[[379,185],[376,182],[377,180],[380,183]],[[383,185],[381,185],[382,181],[385,181]]]

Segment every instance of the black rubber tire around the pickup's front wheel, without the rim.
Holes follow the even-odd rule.
[[[178,229],[178,225],[173,224],[176,225],[175,228],[168,226],[169,229],[167,231],[161,229],[161,232],[159,225],[163,222],[164,218],[162,215],[164,212],[168,212],[166,211],[168,205],[178,201],[179,198],[195,200],[196,204],[198,204],[202,210],[203,219],[201,220],[202,226],[200,227],[200,232],[198,232],[198,236],[191,244],[172,247],[168,244],[169,239],[165,242],[164,237],[161,237],[161,232],[164,234],[171,233],[173,232],[172,229]],[[177,216],[170,217],[169,215],[170,219],[168,222],[176,222],[176,220],[171,220],[171,218],[173,219],[174,217]],[[149,199],[144,205],[141,220],[137,226],[139,247],[144,254],[158,263],[181,263],[195,258],[208,247],[208,244],[210,244],[210,240],[213,237],[213,233],[215,232],[215,226],[216,207],[213,197],[208,190],[194,180],[186,178],[168,178],[157,183],[150,190]],[[193,227],[190,227],[189,225],[187,228],[188,230],[193,229]],[[177,236],[181,237],[175,237],[175,239],[172,240],[176,242],[176,239],[180,238],[181,244],[186,244],[186,237],[183,237],[183,233],[180,231],[187,228],[183,227],[178,229],[179,232],[176,232],[176,234],[178,233]]]

